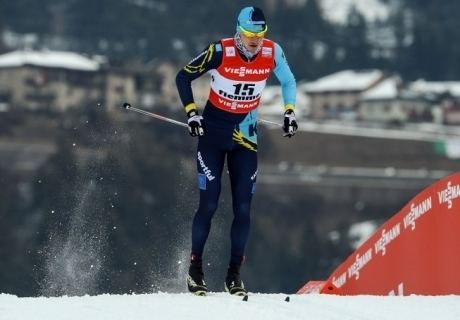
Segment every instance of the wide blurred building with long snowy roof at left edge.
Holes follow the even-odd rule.
[[[10,106],[64,111],[100,102],[113,106],[134,96],[135,77],[108,70],[102,59],[48,50],[0,55],[0,97]]]

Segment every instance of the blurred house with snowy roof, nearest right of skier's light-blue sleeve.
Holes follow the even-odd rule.
[[[310,98],[313,119],[341,119],[355,114],[361,94],[385,79],[381,70],[343,70],[299,85]]]

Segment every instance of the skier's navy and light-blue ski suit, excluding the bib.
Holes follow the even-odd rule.
[[[223,40],[211,43],[178,72],[176,85],[186,112],[190,106],[195,105],[191,82],[206,72],[219,68],[224,49]],[[258,55],[260,54],[259,52]],[[249,65],[256,58],[248,60],[239,51],[238,55]],[[285,109],[294,108],[295,78],[283,50],[276,43],[273,59],[273,72],[281,83]],[[213,75],[211,78],[211,81],[215,80]],[[205,134],[199,137],[196,153],[200,201],[192,225],[192,257],[201,259],[203,255],[211,220],[217,210],[221,175],[227,160],[234,213],[230,235],[230,263],[241,264],[249,235],[251,199],[256,189],[257,109],[233,113],[216,107],[208,100],[202,116]]]

